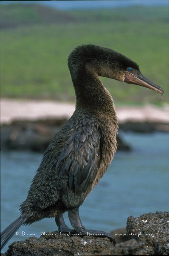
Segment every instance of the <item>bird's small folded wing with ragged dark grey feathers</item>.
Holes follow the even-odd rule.
[[[69,174],[69,187],[76,192],[83,192],[96,177],[100,164],[100,134],[92,127],[71,134],[56,163],[59,178]]]

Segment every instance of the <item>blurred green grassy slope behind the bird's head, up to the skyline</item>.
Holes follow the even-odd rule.
[[[116,105],[169,102],[167,7],[59,12],[11,4],[1,5],[2,13],[1,97],[74,101],[68,55],[78,45],[96,44],[136,61],[164,89],[161,97],[144,87],[101,78]]]

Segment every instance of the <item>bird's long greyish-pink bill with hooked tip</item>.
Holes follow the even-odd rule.
[[[138,85],[147,87],[149,89],[152,89],[155,92],[161,93],[161,95],[163,95],[163,88],[161,88],[157,84],[154,84],[152,81],[149,81],[149,79],[147,79],[141,73],[138,73],[138,74],[125,73],[124,82],[128,84],[138,84]]]

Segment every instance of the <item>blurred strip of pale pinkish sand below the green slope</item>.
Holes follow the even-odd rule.
[[[10,124],[13,120],[38,120],[46,118],[70,118],[75,110],[75,104],[49,100],[0,100],[0,123]],[[157,107],[154,105],[115,107],[119,123],[134,122],[165,122],[169,123],[169,105]]]

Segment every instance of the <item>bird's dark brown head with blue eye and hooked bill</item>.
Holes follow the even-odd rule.
[[[79,46],[71,52],[68,66],[73,79],[86,70],[87,73],[137,84],[163,94],[160,86],[143,76],[137,63],[109,48],[92,44]]]

